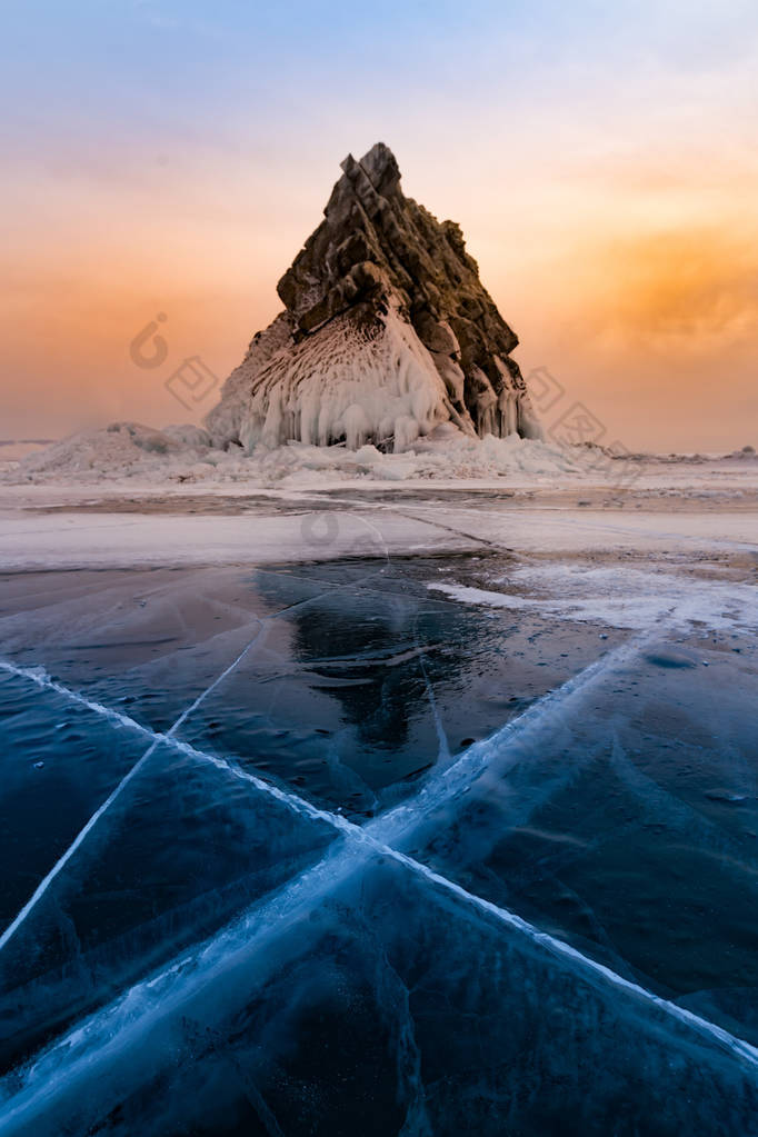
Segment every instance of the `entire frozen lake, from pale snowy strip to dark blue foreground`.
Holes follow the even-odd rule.
[[[751,503],[339,493],[5,499],[0,1134],[758,1132]]]

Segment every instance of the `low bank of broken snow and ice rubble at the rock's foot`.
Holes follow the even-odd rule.
[[[394,433],[395,447],[400,442],[403,448],[397,454],[384,454],[367,441],[376,433],[381,400],[374,413],[366,404],[348,402],[347,398],[339,418],[348,435],[347,445],[289,442],[268,447],[259,439],[255,451],[245,454],[234,445],[226,450],[214,449],[208,445],[208,432],[198,426],[156,431],[136,423],[115,423],[106,430],[73,434],[15,464],[0,479],[11,483],[61,484],[140,479],[155,484],[180,481],[303,485],[355,479],[403,482],[527,475],[531,480],[555,480],[557,475],[578,476],[583,472],[581,455],[570,448],[517,434],[477,439],[464,434],[449,421],[436,424],[422,438],[418,417],[400,413],[391,421],[378,418],[380,429]],[[418,412],[418,392],[413,398]],[[333,410],[332,405],[319,404],[315,397],[310,401],[305,399],[300,408],[301,415],[315,423],[314,429],[323,437],[334,424]],[[276,423],[289,414],[286,407],[275,401],[268,408],[266,429],[276,433]],[[430,420],[424,423],[426,428],[431,425]]]

